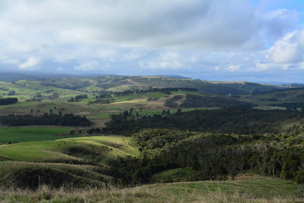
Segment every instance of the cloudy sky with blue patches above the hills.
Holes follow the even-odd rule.
[[[304,82],[303,11],[303,0],[1,0],[0,71]]]

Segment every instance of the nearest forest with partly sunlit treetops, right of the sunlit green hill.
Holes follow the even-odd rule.
[[[194,171],[185,177],[187,181],[225,180],[227,176],[234,180],[238,173],[248,171],[304,183],[304,150],[297,136],[147,129],[134,133],[131,139],[140,158],[120,157],[109,162],[110,174],[124,183],[157,182],[154,173],[179,167]]]

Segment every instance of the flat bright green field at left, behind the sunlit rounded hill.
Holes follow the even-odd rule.
[[[71,129],[44,127],[0,127],[0,142],[12,143],[65,138]],[[65,135],[57,135],[65,134]],[[55,136],[56,135],[56,136]],[[70,137],[70,135],[68,135]]]

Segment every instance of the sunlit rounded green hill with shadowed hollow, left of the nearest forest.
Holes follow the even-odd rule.
[[[129,137],[108,135],[0,145],[0,160],[107,163],[109,158],[116,156],[138,156],[138,151],[129,142]]]

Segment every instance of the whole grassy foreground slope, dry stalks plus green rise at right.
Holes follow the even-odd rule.
[[[236,181],[199,181],[151,184],[122,189],[113,185],[102,189],[51,189],[42,186],[36,191],[11,187],[0,190],[3,202],[303,202],[297,186],[289,181],[269,177],[245,176]]]

